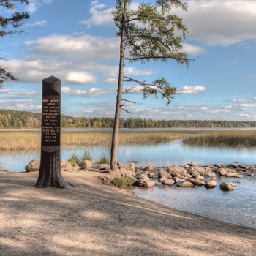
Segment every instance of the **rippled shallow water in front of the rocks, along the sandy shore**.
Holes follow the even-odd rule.
[[[240,183],[236,183],[235,190],[223,192],[219,189],[222,181],[240,181]],[[134,192],[139,197],[162,203],[170,208],[256,228],[256,177],[217,178],[217,183],[218,186],[214,189],[181,188],[173,185],[151,189],[135,187]]]

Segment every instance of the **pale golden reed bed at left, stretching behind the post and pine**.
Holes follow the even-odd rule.
[[[111,132],[62,132],[61,147],[110,146]],[[157,144],[184,138],[176,132],[120,132],[120,144]],[[40,148],[40,132],[1,132],[0,150]]]

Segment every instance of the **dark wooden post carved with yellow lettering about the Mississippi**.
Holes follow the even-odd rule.
[[[36,187],[64,187],[61,174],[61,80],[42,80],[41,161]]]

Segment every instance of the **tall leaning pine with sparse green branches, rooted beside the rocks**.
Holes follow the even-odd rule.
[[[111,143],[110,167],[117,167],[118,130],[121,110],[124,109],[124,82],[138,83],[143,97],[150,95],[162,97],[170,103],[176,94],[176,88],[171,87],[165,78],[159,78],[152,83],[138,81],[124,74],[126,61],[168,61],[173,59],[178,64],[189,66],[187,53],[183,50],[182,39],[185,39],[187,27],[182,18],[173,14],[172,10],[181,8],[187,11],[187,4],[179,0],[156,0],[155,4],[145,3],[138,8],[131,8],[132,0],[116,0],[113,11],[114,22],[120,37],[120,59],[118,71],[118,89],[116,97],[116,113]],[[178,31],[180,32],[178,34]],[[131,88],[132,89],[132,88]]]

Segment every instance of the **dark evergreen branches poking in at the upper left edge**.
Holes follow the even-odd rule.
[[[20,2],[24,4],[29,4],[29,0],[0,0],[0,37],[7,36],[8,34],[21,34],[23,33],[22,29],[19,29],[23,25],[23,20],[29,18],[27,12],[17,12],[17,6],[13,2]],[[9,16],[9,17],[5,17]],[[0,59],[3,59],[0,57]],[[18,80],[15,78],[11,72],[7,71],[4,67],[0,66],[0,89],[4,86],[4,83],[7,80]]]

